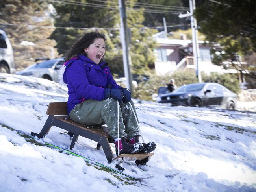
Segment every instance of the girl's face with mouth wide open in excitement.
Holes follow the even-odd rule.
[[[102,38],[96,38],[93,44],[90,44],[84,51],[87,53],[87,57],[96,64],[100,63],[105,54],[105,41]]]

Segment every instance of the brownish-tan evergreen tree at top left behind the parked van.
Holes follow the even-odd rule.
[[[52,33],[52,20],[46,17],[48,4],[41,0],[0,1],[0,28],[12,44],[17,70],[35,63],[35,58],[50,57],[55,41],[47,39]],[[26,46],[32,42],[34,46]]]

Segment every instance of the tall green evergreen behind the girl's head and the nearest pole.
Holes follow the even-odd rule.
[[[75,39],[83,33],[98,29],[107,37],[105,60],[110,64],[112,73],[124,75],[122,64],[122,45],[119,34],[120,19],[118,1],[107,0],[98,2],[97,7],[89,7],[86,0],[76,1],[76,5],[67,3],[54,3],[58,13],[55,26],[71,27],[57,28],[51,38],[57,41],[59,53],[68,50]],[[156,31],[143,28],[143,9],[133,10],[134,0],[127,5],[128,27],[131,28],[132,42],[130,44],[130,55],[132,57],[132,68],[134,73],[148,71],[148,65],[154,62],[152,35]],[[77,28],[86,28],[77,29]],[[88,28],[88,29],[87,29]]]

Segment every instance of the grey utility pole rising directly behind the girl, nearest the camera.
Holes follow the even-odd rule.
[[[127,28],[127,16],[124,0],[118,0],[119,13],[120,13],[120,36],[122,42],[122,58],[124,64],[124,76],[126,78],[126,87],[130,89],[133,95],[132,87],[132,63],[129,56],[129,31]]]

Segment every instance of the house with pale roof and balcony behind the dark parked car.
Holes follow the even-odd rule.
[[[158,47],[154,50],[156,74],[173,73],[177,70],[195,72],[191,40],[168,39],[164,31],[154,34],[153,38],[158,43]],[[198,44],[198,66],[201,72],[208,75],[211,73],[237,73],[234,69],[226,70],[223,69],[223,66],[211,63],[211,47],[207,46],[204,41],[198,41]]]

